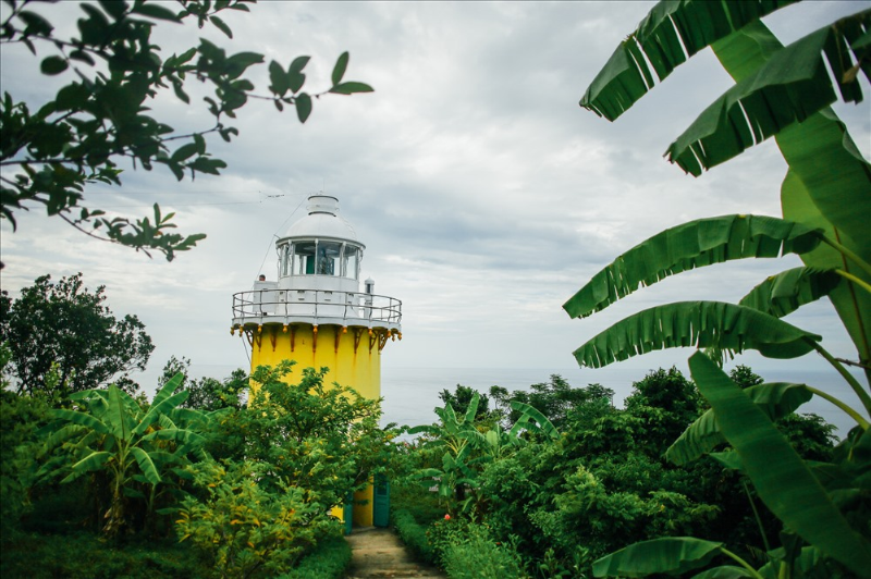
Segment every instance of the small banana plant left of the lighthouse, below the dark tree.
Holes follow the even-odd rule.
[[[107,390],[73,394],[78,410],[54,409],[54,419],[46,427],[42,456],[61,448],[40,469],[44,477],[62,476],[69,483],[88,472],[105,472],[110,480],[109,509],[103,531],[115,535],[125,525],[124,506],[130,496],[143,494],[133,483],[142,482],[149,491],[149,510],[161,471],[183,463],[198,449],[203,436],[179,428],[170,416],[188,396],[174,393],[183,374],[177,373],[157,393],[147,410],[114,384]],[[176,417],[177,419],[177,417]]]

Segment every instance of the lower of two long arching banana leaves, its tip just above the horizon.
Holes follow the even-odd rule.
[[[788,359],[813,349],[821,337],[773,316],[723,301],[677,301],[634,313],[574,352],[581,367],[601,368],[639,354],[673,347],[756,349]]]

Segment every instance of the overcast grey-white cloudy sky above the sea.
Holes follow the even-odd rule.
[[[575,348],[640,309],[737,301],[799,261],[745,260],[684,273],[585,320],[561,307],[621,252],[668,226],[727,213],[780,214],[786,165],[773,140],[699,178],[662,158],[731,86],[710,50],[614,123],[578,107],[651,5],[272,1],[222,15],[233,40],[214,28],[161,23],[155,37],[167,56],[200,36],[285,67],[310,56],[312,91],[329,88],[332,65],[347,50],[345,79],[376,90],[324,96],[305,125],[292,110],[250,102],[234,123],[238,138],[209,141],[229,164],[220,177],[177,182],[169,171],[131,169],[122,187],[86,192],[88,207],[131,217],[148,214],[157,201],[176,211],[181,232],[207,234],[173,262],[90,239],[39,208],[19,212],[17,232],[0,223],[2,288],[15,296],[39,275],[81,271],[88,287],[106,285],[116,316],[135,313],[146,324],[157,346],[142,378],[147,390],[171,355],[189,358],[195,374],[226,375],[248,365],[229,331],[232,295],[249,290],[258,273],[275,278],[275,236],[305,215],[309,195],[323,192],[339,198],[367,246],[361,279],[375,279],[376,293],[403,303],[403,340],[384,349],[384,367],[571,368]],[[869,7],[805,2],[765,23],[789,42]],[[61,29],[81,14],[74,2],[39,10]],[[7,11],[3,4],[0,14]],[[36,108],[53,96],[57,81],[40,76],[39,60],[20,48],[0,52],[0,84]],[[267,94],[266,66],[254,79]],[[154,115],[179,132],[210,126],[198,100],[207,93],[197,90],[191,88],[189,107],[160,96]],[[835,110],[871,155],[869,101],[838,102]],[[787,321],[822,334],[836,356],[855,358],[827,300]],[[690,354],[666,350],[622,365],[680,366]],[[740,360],[755,369],[784,364],[753,354]],[[787,364],[824,365],[813,355]]]

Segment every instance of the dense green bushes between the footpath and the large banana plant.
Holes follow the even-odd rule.
[[[747,387],[762,382],[746,367],[732,377]],[[636,382],[625,409],[613,407],[613,393],[598,384],[573,389],[562,378],[554,382],[562,385],[533,392],[554,418],[562,417],[562,435],[532,436],[482,463],[475,486],[466,489],[475,508],[455,503],[447,513],[436,492],[394,486],[393,523],[424,560],[444,565],[454,545],[457,560],[502,560],[500,553],[507,550],[526,576],[585,577],[597,557],[627,541],[704,532],[757,560],[769,538],[777,537],[777,520],[740,472],[712,458],[680,467],[664,458],[677,434],[706,411],[694,383],[679,371],[658,370]],[[491,418],[471,428],[488,431]],[[818,417],[786,412],[777,424],[801,456],[832,459],[832,427]],[[721,442],[716,448],[726,446]],[[413,445],[408,458],[426,466],[439,455]],[[479,539],[499,550],[486,541],[477,550],[463,549],[476,525],[486,530]]]

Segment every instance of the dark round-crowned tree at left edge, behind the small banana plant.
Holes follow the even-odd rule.
[[[9,374],[17,393],[66,398],[109,381],[138,390],[128,372],[145,370],[155,346],[136,316],[114,317],[105,290],[88,292],[76,273],[57,284],[42,275],[19,299],[0,293],[0,341],[12,353]],[[52,364],[58,379],[50,379]]]

